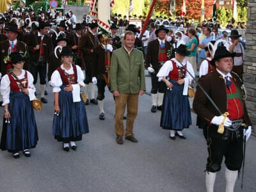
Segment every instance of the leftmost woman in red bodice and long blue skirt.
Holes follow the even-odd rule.
[[[31,100],[35,100],[33,76],[23,70],[25,58],[19,52],[12,52],[9,63],[12,71],[7,72],[1,80],[4,120],[1,136],[2,150],[8,150],[13,158],[19,159],[19,151],[30,157],[29,148],[35,148],[38,141],[35,114]]]

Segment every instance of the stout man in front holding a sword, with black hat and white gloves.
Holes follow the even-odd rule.
[[[243,139],[248,140],[252,133],[252,123],[244,103],[243,82],[231,72],[235,55],[224,46],[218,47],[212,59],[216,70],[198,81],[218,109],[199,87],[193,102],[193,109],[207,123],[204,127],[209,152],[205,172],[207,192],[214,191],[216,173],[221,169],[224,156],[226,192],[234,191],[243,163]]]

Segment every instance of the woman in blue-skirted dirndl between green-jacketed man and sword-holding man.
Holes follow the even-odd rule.
[[[175,136],[186,139],[182,130],[191,125],[188,86],[193,81],[188,71],[193,77],[195,76],[191,63],[185,60],[185,56],[189,54],[186,45],[179,45],[175,52],[175,58],[166,61],[157,74],[159,81],[164,81],[167,86],[164,93],[161,127],[170,130],[172,140],[175,140]]]

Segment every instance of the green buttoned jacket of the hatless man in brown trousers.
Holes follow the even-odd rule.
[[[113,51],[110,67],[111,91],[119,93],[139,93],[146,90],[144,58],[138,49],[132,49],[130,56],[121,47]]]

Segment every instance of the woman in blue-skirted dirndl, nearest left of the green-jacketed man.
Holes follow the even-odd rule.
[[[52,134],[63,142],[63,150],[77,150],[75,141],[89,132],[86,109],[80,95],[84,86],[84,74],[78,65],[72,64],[73,53],[68,47],[61,51],[63,63],[52,73],[51,86],[54,92],[54,118]]]

